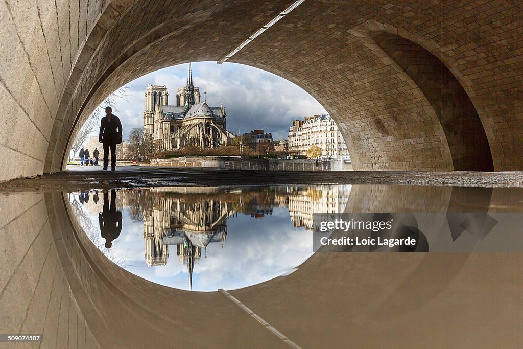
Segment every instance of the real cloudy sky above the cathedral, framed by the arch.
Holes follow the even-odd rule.
[[[127,84],[127,100],[113,106],[120,116],[123,136],[133,127],[143,127],[144,93],[147,84],[165,85],[169,105],[176,104],[178,87],[187,82],[188,64],[168,67],[144,75]],[[247,65],[215,62],[192,63],[192,80],[200,88],[201,99],[207,92],[209,106],[223,105],[227,128],[241,133],[253,129],[271,132],[275,139],[287,139],[291,120],[325,112],[325,109],[297,85],[277,75]],[[116,108],[115,108],[116,107]],[[116,111],[117,109],[118,111]]]

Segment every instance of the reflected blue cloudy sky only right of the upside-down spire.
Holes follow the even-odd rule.
[[[274,278],[308,258],[310,242],[310,232],[292,228],[288,217],[230,218],[223,249],[209,245],[207,258],[195,267],[196,286],[232,289]]]

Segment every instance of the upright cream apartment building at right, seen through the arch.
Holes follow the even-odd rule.
[[[328,114],[293,120],[289,127],[290,152],[306,155],[313,145],[321,149],[321,156],[324,157],[350,157],[342,134]]]

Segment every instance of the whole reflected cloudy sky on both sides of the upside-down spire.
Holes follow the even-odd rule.
[[[98,226],[97,213],[85,212]],[[275,208],[272,216],[255,219],[248,215],[231,217],[223,249],[209,244],[207,257],[195,265],[192,289],[214,291],[235,289],[264,282],[288,272],[312,254],[311,232],[292,227],[287,209]],[[99,237],[99,230],[97,231]],[[130,210],[122,212],[122,231],[111,247],[113,256],[125,256],[124,268],[154,283],[188,289],[187,266],[179,263],[176,246],[169,246],[166,265],[147,267],[144,259],[143,222],[133,222]],[[103,244],[98,244],[107,252]]]

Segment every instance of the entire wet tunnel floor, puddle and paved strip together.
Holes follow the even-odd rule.
[[[523,254],[506,252],[521,224],[496,240],[499,215],[523,212],[520,173],[75,170],[0,185],[4,333],[43,333],[43,347],[76,332],[104,348],[288,347],[268,327],[302,348],[523,343]],[[497,225],[425,222],[427,253],[313,253],[322,211]]]

